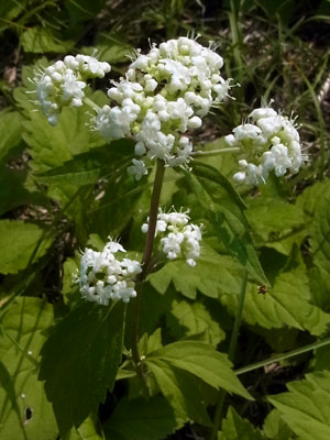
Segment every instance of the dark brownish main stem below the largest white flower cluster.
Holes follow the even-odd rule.
[[[140,316],[141,316],[141,301],[142,301],[142,283],[146,278],[148,274],[150,261],[153,252],[154,240],[155,240],[155,231],[157,224],[157,215],[158,215],[158,206],[161,191],[164,180],[165,166],[164,162],[157,161],[157,169],[154,180],[153,194],[150,204],[150,212],[148,212],[148,229],[146,234],[144,254],[142,257],[142,272],[138,277],[138,286],[136,286],[136,298],[133,301],[133,317],[132,317],[132,358],[133,362],[138,369],[138,373],[140,376],[143,376],[141,364],[140,364],[140,353],[139,353],[139,338],[140,338]]]

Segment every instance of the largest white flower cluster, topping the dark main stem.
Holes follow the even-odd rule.
[[[136,52],[125,78],[113,84],[105,106],[94,118],[106,140],[133,136],[135,154],[130,172],[146,174],[145,162],[160,158],[168,166],[185,165],[193,145],[184,133],[199,129],[215,102],[228,96],[220,76],[223,61],[212,48],[188,37],[155,44],[146,55]]]

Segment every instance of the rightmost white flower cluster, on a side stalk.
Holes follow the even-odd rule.
[[[249,122],[237,127],[226,142],[241,148],[241,170],[233,178],[245,185],[264,184],[272,170],[276,176],[298,173],[304,161],[295,120],[270,107],[253,110]]]

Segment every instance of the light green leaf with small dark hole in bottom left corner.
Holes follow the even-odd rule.
[[[57,426],[44,386],[37,381],[43,331],[53,308],[38,298],[11,304],[0,328],[0,438],[55,440]]]

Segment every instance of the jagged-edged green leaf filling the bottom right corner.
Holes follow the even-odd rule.
[[[287,385],[288,393],[268,396],[299,440],[330,438],[330,372],[307,374]]]

